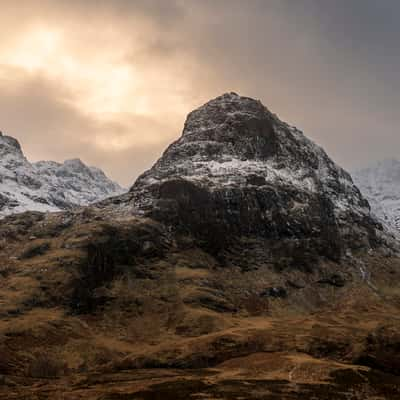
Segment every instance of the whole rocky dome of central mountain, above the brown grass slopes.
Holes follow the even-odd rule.
[[[382,230],[350,175],[320,147],[234,93],[189,114],[181,138],[130,198],[135,212],[216,253],[247,236],[338,260],[348,248],[378,246]]]

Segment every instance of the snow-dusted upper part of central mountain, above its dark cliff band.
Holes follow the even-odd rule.
[[[235,93],[190,113],[182,137],[139,177],[131,191],[173,177],[214,190],[290,184],[300,191],[327,194],[337,215],[346,209],[362,214],[368,208],[350,175],[321,147],[280,121],[261,102]],[[149,198],[141,196],[139,202]]]

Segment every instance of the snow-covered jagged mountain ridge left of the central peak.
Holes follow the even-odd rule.
[[[0,133],[0,217],[88,205],[123,191],[78,159],[30,163],[18,141]]]

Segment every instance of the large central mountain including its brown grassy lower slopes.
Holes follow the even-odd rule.
[[[129,192],[2,219],[0,400],[398,399],[399,309],[350,175],[227,93]]]

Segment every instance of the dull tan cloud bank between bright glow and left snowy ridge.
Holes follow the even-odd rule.
[[[10,68],[6,72],[8,79],[0,79],[2,129],[19,139],[29,159],[79,156],[129,186],[176,132],[176,126],[135,114],[120,115],[118,122],[96,120],[71,106],[73,95],[58,82]]]

